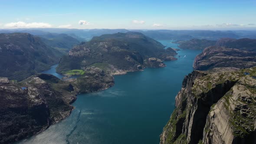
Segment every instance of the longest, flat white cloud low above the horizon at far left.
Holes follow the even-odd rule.
[[[49,28],[53,25],[49,23],[25,23],[25,22],[16,22],[16,23],[7,23],[4,25],[8,28]]]

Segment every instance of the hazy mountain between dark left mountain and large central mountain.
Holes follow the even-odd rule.
[[[45,35],[39,35],[42,37],[42,41],[46,45],[51,46],[56,49],[62,49],[66,52],[69,52],[69,49],[72,49],[73,46],[78,45],[80,42],[69,36],[67,34],[57,34],[57,33],[47,33]]]

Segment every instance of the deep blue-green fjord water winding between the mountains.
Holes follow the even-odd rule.
[[[160,42],[177,48],[171,41]],[[165,68],[116,75],[112,88],[79,94],[68,118],[20,143],[159,144],[175,96],[200,51],[181,49],[177,53],[178,60],[165,62]],[[48,73],[54,74],[54,69]]]

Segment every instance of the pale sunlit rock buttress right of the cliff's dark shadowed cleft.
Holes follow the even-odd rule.
[[[212,106],[204,144],[256,144],[256,79],[241,78]]]

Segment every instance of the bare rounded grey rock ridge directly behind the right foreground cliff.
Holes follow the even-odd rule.
[[[195,70],[230,66],[239,69],[256,66],[256,52],[225,46],[210,46],[196,56],[193,64]]]

